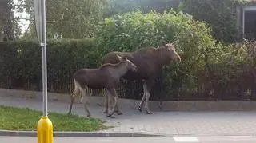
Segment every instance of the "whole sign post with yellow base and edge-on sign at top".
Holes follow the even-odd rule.
[[[47,113],[46,0],[34,0],[34,20],[42,49],[42,117],[38,121],[38,143],[53,143],[53,125]]]

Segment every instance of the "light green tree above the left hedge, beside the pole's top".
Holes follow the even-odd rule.
[[[34,24],[34,1],[24,0],[26,12]],[[95,24],[102,20],[105,0],[47,0],[47,34],[61,33],[63,38],[90,38],[94,35]],[[30,32],[33,32],[30,26]]]

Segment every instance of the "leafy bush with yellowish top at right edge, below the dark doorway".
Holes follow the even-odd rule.
[[[213,91],[212,95],[215,98],[222,100],[255,98],[255,47],[255,42],[222,46],[223,53],[219,54],[216,60],[207,61],[207,78],[204,83],[210,85],[208,91]]]

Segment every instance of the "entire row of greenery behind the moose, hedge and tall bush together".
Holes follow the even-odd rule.
[[[173,10],[163,14],[135,11],[114,15],[98,26],[95,39],[48,41],[49,91],[70,93],[75,70],[100,66],[107,52],[132,51],[178,39],[182,62],[167,66],[162,87],[154,86],[163,89],[166,96],[162,99],[256,97],[256,44],[223,45],[211,35],[212,30],[205,22]],[[1,87],[41,90],[42,54],[37,43],[0,42],[0,52]],[[142,85],[128,82],[123,87],[118,92],[120,97],[141,99]],[[159,99],[159,94],[151,98]]]

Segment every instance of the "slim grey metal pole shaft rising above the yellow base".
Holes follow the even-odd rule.
[[[43,116],[47,116],[47,58],[46,58],[46,0],[42,0],[42,102]]]

